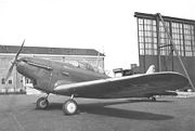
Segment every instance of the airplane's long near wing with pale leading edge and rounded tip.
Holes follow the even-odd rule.
[[[186,77],[173,71],[133,75],[93,81],[60,84],[55,93],[78,97],[119,99],[165,94],[188,84]]]

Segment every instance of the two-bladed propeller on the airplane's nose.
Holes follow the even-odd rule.
[[[11,76],[11,74],[12,74],[12,71],[13,71],[13,67],[14,67],[15,64],[16,64],[17,57],[18,57],[18,55],[20,55],[20,53],[21,53],[21,51],[22,51],[22,49],[23,49],[23,47],[24,47],[24,43],[25,43],[25,39],[24,39],[24,41],[23,41],[20,50],[17,51],[17,53],[16,53],[16,55],[15,55],[14,62],[12,62],[12,65],[11,65],[9,71],[8,71],[8,74],[6,74],[5,81],[8,81],[9,77]]]

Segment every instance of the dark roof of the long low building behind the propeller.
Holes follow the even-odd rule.
[[[0,45],[0,53],[16,53],[18,45]],[[93,49],[74,49],[74,48],[46,48],[46,47],[24,47],[22,54],[50,54],[50,55],[91,55],[104,56]]]

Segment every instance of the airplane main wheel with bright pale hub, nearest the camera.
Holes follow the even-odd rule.
[[[67,100],[63,104],[63,112],[65,115],[74,115],[77,113],[78,105],[74,100]]]

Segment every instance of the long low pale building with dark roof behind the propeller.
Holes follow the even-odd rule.
[[[17,45],[0,45],[0,93],[2,94],[26,93],[26,88],[31,86],[31,81],[20,75],[15,67],[9,80],[5,81],[8,69],[20,48]],[[76,66],[84,66],[84,68],[90,68],[90,64],[104,69],[105,55],[93,49],[24,47],[20,54],[20,57],[22,56],[49,58]]]

